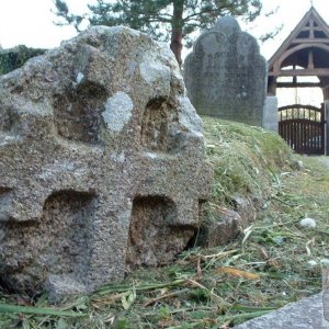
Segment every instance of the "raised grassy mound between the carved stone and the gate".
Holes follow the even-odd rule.
[[[212,203],[230,206],[231,196],[266,198],[276,172],[290,166],[292,150],[277,134],[239,123],[203,117],[214,168]]]

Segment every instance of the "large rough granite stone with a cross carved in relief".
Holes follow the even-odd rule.
[[[167,46],[92,27],[2,76],[0,94],[2,284],[91,291],[186,246],[211,170]]]

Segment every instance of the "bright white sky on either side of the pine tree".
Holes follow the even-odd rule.
[[[72,12],[87,12],[87,3],[95,0],[67,0]],[[279,7],[275,15],[259,18],[248,32],[259,36],[281,24],[282,32],[274,41],[261,45],[261,53],[269,59],[290,32],[310,8],[310,0],[263,0],[264,11]],[[314,0],[314,7],[329,23],[329,0]],[[53,0],[0,0],[0,44],[3,48],[20,44],[30,47],[52,48],[76,35],[71,26],[56,26]]]

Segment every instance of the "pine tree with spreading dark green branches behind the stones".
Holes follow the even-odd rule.
[[[56,14],[77,31],[87,15],[69,12],[65,0],[55,0]],[[260,0],[98,0],[88,5],[91,25],[126,25],[149,33],[159,41],[169,41],[178,63],[182,64],[183,41],[191,45],[190,35],[207,29],[223,15],[230,14],[253,21],[260,13]]]

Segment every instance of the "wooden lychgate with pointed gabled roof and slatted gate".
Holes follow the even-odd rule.
[[[279,109],[279,133],[299,154],[328,155],[329,26],[313,5],[268,64],[269,95],[275,95],[276,88],[321,88],[321,109],[302,104]]]

